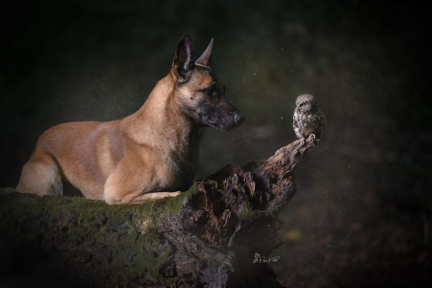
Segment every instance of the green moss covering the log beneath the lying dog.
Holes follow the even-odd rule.
[[[176,278],[163,278],[160,273],[171,260],[172,248],[160,238],[156,224],[168,214],[180,213],[196,193],[195,183],[177,197],[135,205],[20,193],[1,195],[0,237],[7,242],[0,251],[2,261],[13,260],[20,250],[25,256],[26,249],[35,245],[53,246],[58,254],[55,257],[63,261],[100,269],[101,278],[94,281],[101,285],[124,287],[131,279],[145,275],[156,283],[175,286]],[[101,263],[100,267],[91,267],[88,262],[92,258]],[[112,267],[114,273],[107,274]]]

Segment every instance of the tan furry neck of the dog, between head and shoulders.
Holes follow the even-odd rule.
[[[202,128],[180,111],[174,81],[172,73],[162,78],[144,105],[123,121],[126,134],[135,143],[183,158],[190,149],[198,150]]]

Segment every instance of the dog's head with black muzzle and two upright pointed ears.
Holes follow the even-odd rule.
[[[206,51],[193,60],[193,45],[189,35],[177,44],[172,70],[175,96],[185,115],[198,125],[229,130],[243,123],[244,115],[225,98],[225,86],[210,68],[213,39]]]

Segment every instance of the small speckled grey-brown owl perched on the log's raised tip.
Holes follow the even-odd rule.
[[[297,97],[296,109],[293,115],[293,128],[297,138],[303,145],[305,138],[320,140],[324,130],[324,114],[311,94],[302,94]]]

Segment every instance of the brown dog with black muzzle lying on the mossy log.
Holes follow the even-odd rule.
[[[17,190],[62,195],[63,177],[84,197],[117,204],[175,196],[187,189],[200,162],[203,128],[228,130],[244,121],[210,68],[212,47],[213,39],[193,61],[192,40],[183,36],[168,75],[134,114],[45,131],[23,167]]]

